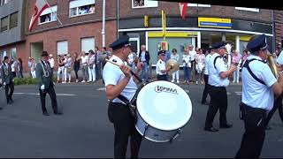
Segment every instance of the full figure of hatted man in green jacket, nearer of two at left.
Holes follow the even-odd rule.
[[[49,55],[46,51],[42,51],[42,60],[36,64],[36,78],[38,79],[39,93],[42,102],[43,116],[49,116],[45,107],[45,97],[48,93],[50,95],[53,112],[55,115],[61,115],[62,112],[58,111],[56,93],[53,83],[53,72],[51,70]]]

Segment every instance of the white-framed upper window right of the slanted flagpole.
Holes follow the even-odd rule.
[[[83,7],[83,6],[88,6],[88,5],[95,5],[95,8],[96,8],[96,0],[74,0],[74,1],[70,1],[70,3],[69,3],[69,18],[96,13],[96,9],[95,9],[95,12],[79,14],[79,8]],[[76,15],[71,15],[71,12],[72,12],[71,10],[74,9],[74,8],[76,9]]]

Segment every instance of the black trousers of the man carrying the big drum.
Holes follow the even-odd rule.
[[[126,158],[126,148],[131,136],[131,158],[138,158],[142,135],[137,132],[130,109],[122,103],[110,102],[108,117],[114,125],[114,158]]]

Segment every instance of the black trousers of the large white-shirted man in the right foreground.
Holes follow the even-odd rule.
[[[266,110],[245,105],[241,109],[245,124],[241,148],[235,158],[259,158],[265,138]]]

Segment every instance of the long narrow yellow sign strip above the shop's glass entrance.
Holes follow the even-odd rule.
[[[166,32],[166,37],[192,37],[197,36],[197,32]],[[163,37],[163,32],[149,32],[148,37]]]

